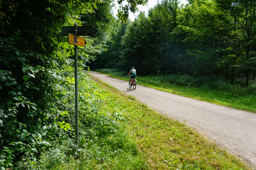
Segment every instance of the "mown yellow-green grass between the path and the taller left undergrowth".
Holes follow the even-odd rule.
[[[127,142],[136,146],[136,153],[126,150],[105,161],[99,161],[100,158],[74,161],[66,169],[253,169],[185,124],[166,118],[132,96],[95,81],[105,90],[102,95],[107,94],[103,108],[123,116],[119,123],[125,129]],[[107,138],[116,143],[122,140],[117,140],[120,136],[117,133],[112,139]]]

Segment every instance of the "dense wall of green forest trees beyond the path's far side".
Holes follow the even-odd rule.
[[[255,79],[255,0],[163,0],[118,25],[108,51],[91,68],[137,68],[141,75],[173,73]]]

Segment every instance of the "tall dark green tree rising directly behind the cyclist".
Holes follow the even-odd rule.
[[[177,8],[177,1],[163,1],[149,10],[148,17],[141,12],[129,25],[120,57],[124,67],[132,63],[142,74],[165,74],[172,48],[169,33],[176,26]]]

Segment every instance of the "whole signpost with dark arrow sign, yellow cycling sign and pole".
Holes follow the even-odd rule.
[[[77,68],[77,46],[86,45],[86,41],[83,37],[79,36],[91,36],[97,33],[98,30],[93,26],[77,26],[74,23],[74,27],[61,27],[61,35],[68,36],[68,43],[74,45],[75,50],[75,98],[76,98],[76,143],[78,145],[78,68]],[[77,36],[79,35],[79,36]]]

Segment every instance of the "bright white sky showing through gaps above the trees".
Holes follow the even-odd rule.
[[[114,0],[115,1],[115,6],[113,7],[113,12],[114,12],[114,16],[116,15],[117,13],[117,10],[119,9],[119,5],[117,3],[118,0]],[[126,2],[126,1],[125,1]],[[123,3],[125,3],[123,2]],[[159,2],[161,2],[161,0],[159,0]],[[180,3],[181,4],[187,4],[188,2],[186,0],[180,0]],[[136,12],[136,13],[132,13],[132,12],[129,12],[129,18],[134,21],[134,18],[136,18],[138,16],[138,14],[140,13],[140,11],[145,11],[146,15],[147,15],[147,11],[149,8],[152,8],[154,7],[155,5],[157,4],[157,0],[148,0],[148,3],[146,6],[143,6],[143,5],[139,5],[138,8],[139,8],[139,12]],[[115,8],[116,7],[116,8]]]

